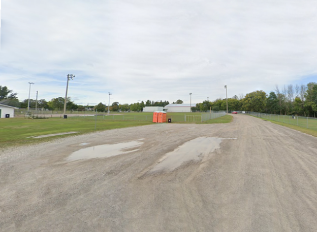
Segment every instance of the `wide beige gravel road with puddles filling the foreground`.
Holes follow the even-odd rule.
[[[2,150],[0,177],[0,231],[317,231],[317,138],[247,115]]]

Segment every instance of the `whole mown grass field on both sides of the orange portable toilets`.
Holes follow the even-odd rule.
[[[0,146],[24,145],[51,139],[74,136],[94,131],[111,130],[125,127],[136,127],[150,125],[153,113],[128,113],[124,115],[98,115],[95,117],[69,117],[68,119],[24,119],[10,118],[0,120]],[[187,114],[186,114],[187,115]],[[188,115],[201,115],[201,113],[188,113]],[[173,117],[172,123],[177,123],[177,118],[184,118],[184,113],[170,113],[168,117]],[[232,121],[231,115],[205,121],[197,124],[229,123]],[[96,123],[96,129],[95,129]],[[188,123],[188,122],[187,122]],[[193,122],[192,122],[193,123]],[[195,123],[195,122],[194,122]],[[39,135],[64,133],[79,131],[72,135],[59,135],[40,139],[27,138]]]

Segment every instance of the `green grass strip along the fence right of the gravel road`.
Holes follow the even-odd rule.
[[[251,116],[256,117],[254,115],[251,115]],[[265,115],[263,115],[263,116],[265,116]],[[274,116],[274,119],[275,119],[275,117],[277,117],[277,115]],[[286,117],[287,118],[284,118],[283,115],[279,115],[277,117],[277,120],[279,120],[279,121],[271,120],[272,116],[270,119],[269,115],[266,115],[265,117],[262,117],[262,118],[258,118],[258,117],[256,117],[256,118],[263,119],[263,120],[272,122],[274,124],[288,127],[288,128],[312,135],[314,137],[317,137],[317,119],[314,120],[314,119],[308,118],[308,126],[310,128],[305,128],[307,126],[307,119],[306,118],[298,118],[298,125],[299,126],[297,126],[297,118],[296,119],[292,119],[292,118],[289,119],[288,116],[286,116]]]

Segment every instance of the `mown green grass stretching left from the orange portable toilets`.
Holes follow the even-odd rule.
[[[26,145],[90,132],[150,124],[152,124],[152,122],[149,121],[108,121],[98,119],[95,130],[95,121],[93,120],[93,117],[90,117],[90,119],[77,117],[69,117],[68,119],[49,118],[36,120],[24,118],[2,119],[0,120],[0,147]],[[71,131],[79,131],[80,133],[39,139],[27,138],[31,136]]]

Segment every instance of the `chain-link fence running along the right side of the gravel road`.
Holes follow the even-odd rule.
[[[299,117],[294,115],[279,115],[269,113],[258,113],[258,112],[246,112],[252,116],[272,120],[280,123],[287,123],[294,126],[299,126],[311,130],[317,131],[317,118]]]

